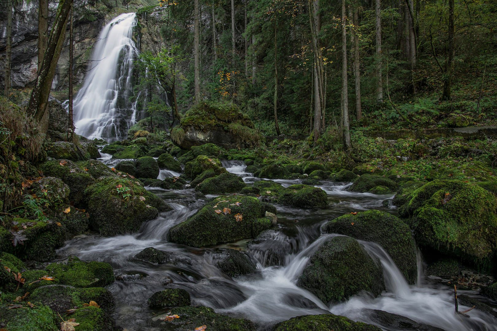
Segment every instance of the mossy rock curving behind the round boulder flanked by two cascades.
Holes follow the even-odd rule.
[[[345,214],[323,226],[325,233],[338,233],[372,241],[390,255],[410,284],[417,279],[416,244],[411,229],[398,217],[379,210]]]

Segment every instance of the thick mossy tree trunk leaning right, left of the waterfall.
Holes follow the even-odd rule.
[[[59,61],[64,39],[66,37],[66,26],[71,9],[71,0],[59,0],[54,25],[50,33],[47,49],[43,55],[40,71],[31,92],[28,104],[28,112],[34,114],[36,121],[40,122],[45,113],[50,96],[50,88],[54,79],[55,67]]]

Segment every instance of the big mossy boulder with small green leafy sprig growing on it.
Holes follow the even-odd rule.
[[[137,183],[104,177],[90,186],[86,190],[90,226],[114,236],[138,231],[143,222],[156,218],[158,209],[148,203],[147,191]]]

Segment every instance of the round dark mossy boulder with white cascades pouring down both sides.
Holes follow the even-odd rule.
[[[311,256],[297,286],[313,293],[326,305],[347,300],[362,290],[377,296],[385,289],[383,271],[378,265],[357,240],[333,237]]]

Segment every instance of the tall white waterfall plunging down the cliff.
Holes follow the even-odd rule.
[[[74,100],[76,133],[88,138],[118,140],[136,114],[129,101],[133,60],[138,54],[132,39],[136,14],[114,18],[98,36],[83,87]],[[136,121],[133,118],[133,121]]]

